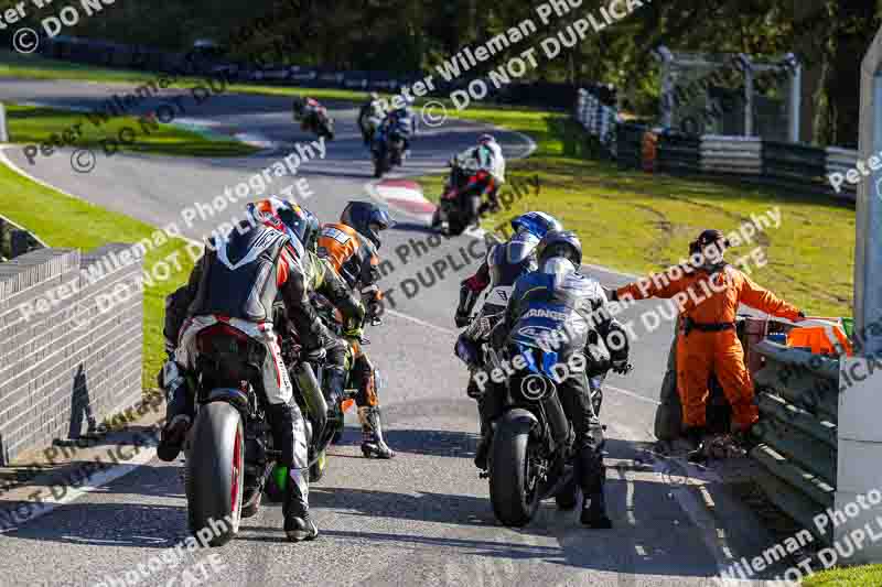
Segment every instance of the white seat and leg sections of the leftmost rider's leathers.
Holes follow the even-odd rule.
[[[198,355],[198,349],[196,348],[197,335],[218,322],[214,316],[194,316],[187,319],[181,329],[181,338],[174,354],[175,361],[185,369],[194,371]],[[293,468],[306,468],[309,466],[306,428],[297,402],[291,401],[293,399],[293,385],[288,376],[288,369],[282,362],[281,349],[279,348],[276,331],[272,329],[272,323],[248,322],[239,318],[229,318],[226,322],[266,347],[267,358],[262,368],[262,382],[267,400],[271,405],[287,403],[291,406],[294,437]]]

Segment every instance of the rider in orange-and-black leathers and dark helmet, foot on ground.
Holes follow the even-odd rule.
[[[327,259],[351,291],[362,296],[368,319],[383,314],[379,281],[379,233],[395,225],[389,213],[368,202],[349,202],[340,222],[322,226],[319,256]],[[357,380],[358,420],[362,423],[362,453],[366,457],[392,458],[395,453],[383,438],[375,368],[361,343],[361,336],[347,337],[354,356],[353,373]]]

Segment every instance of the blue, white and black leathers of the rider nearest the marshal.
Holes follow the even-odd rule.
[[[581,275],[569,261],[548,261],[539,271],[517,280],[492,344],[497,349],[518,344],[542,354],[557,352],[557,362],[570,366],[558,391],[576,433],[576,478],[590,500],[582,522],[609,528],[603,427],[591,401],[589,378],[605,374],[613,363],[627,362],[627,335],[609,313],[600,283]],[[571,360],[577,354],[584,361]],[[578,365],[584,369],[573,367]],[[492,418],[501,407],[498,402],[487,406],[495,411]]]

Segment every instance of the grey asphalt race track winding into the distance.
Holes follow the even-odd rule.
[[[92,84],[4,80],[0,99],[39,100],[90,107],[112,91]],[[142,105],[155,107],[157,102]],[[192,105],[193,102],[187,102]],[[368,153],[361,144],[355,110],[334,107],[337,138],[327,144],[325,160],[300,170],[314,196],[304,204],[324,221],[335,220],[345,203],[367,198],[372,181]],[[109,209],[155,226],[181,225],[181,210],[208,202],[226,186],[284,156],[294,142],[313,138],[290,121],[289,101],[257,96],[218,95],[185,116],[209,120],[223,132],[262,134],[278,149],[240,159],[184,159],[97,154],[88,174],[71,169],[69,150],[40,157],[31,165],[18,149],[7,151],[28,173]],[[448,122],[421,129],[413,156],[401,170],[420,174],[442,169],[450,154],[473,144],[484,129]],[[528,152],[524,137],[496,132],[509,157]],[[278,191],[291,177],[277,180]],[[537,208],[541,207],[537,200]],[[240,208],[230,207],[198,221],[185,236],[202,239]],[[416,258],[409,241],[427,242],[430,232],[413,218],[396,213],[399,225],[385,236],[380,253],[394,271],[384,287],[419,279],[433,261],[450,254],[462,260],[473,239],[442,239]],[[63,218],[58,221],[65,221]],[[434,241],[433,241],[434,242]],[[483,244],[472,244],[483,251]],[[399,247],[401,249],[399,249]],[[590,243],[585,243],[590,257]],[[411,256],[402,262],[399,251]],[[467,252],[466,252],[467,254]],[[637,327],[635,371],[612,376],[603,420],[607,430],[610,531],[583,529],[574,512],[559,512],[546,502],[526,529],[499,526],[488,501],[487,482],[472,464],[476,444],[475,405],[465,393],[466,371],[452,355],[452,324],[459,282],[477,267],[458,263],[444,279],[421,285],[411,298],[395,296],[386,322],[367,333],[368,352],[386,379],[381,391],[390,461],[362,458],[355,418],[341,445],[331,450],[330,470],[310,493],[321,536],[292,545],[281,532],[277,504],[265,504],[243,521],[239,536],[223,548],[189,555],[187,563],[140,577],[140,585],[186,585],[200,576],[192,565],[219,554],[226,568],[211,574],[212,585],[717,585],[713,577],[727,556],[752,557],[762,551],[761,532],[739,534],[727,526],[731,518],[708,512],[695,491],[660,475],[667,465],[653,461],[652,422],[671,340],[670,324],[647,333]],[[612,271],[589,270],[604,285],[625,283]],[[639,309],[652,307],[649,303]],[[632,309],[624,317],[635,318]],[[153,458],[133,472],[95,488],[18,530],[0,536],[0,584],[122,585],[125,574],[146,565],[186,535],[186,504],[181,463]],[[740,514],[738,514],[740,515]],[[742,521],[742,524],[744,522]],[[730,524],[731,525],[731,524]],[[729,530],[722,532],[721,528]],[[749,528],[750,530],[750,528]],[[207,563],[206,563],[207,565]],[[191,567],[191,574],[184,573]]]

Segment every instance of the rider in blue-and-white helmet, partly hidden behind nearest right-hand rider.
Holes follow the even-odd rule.
[[[484,304],[481,307],[480,320],[487,317],[490,327],[496,325],[502,319],[515,282],[521,275],[535,271],[536,247],[547,232],[561,230],[560,222],[552,216],[541,211],[530,211],[523,214],[512,220],[514,235],[507,242],[496,244],[487,252],[487,258],[477,269],[477,272],[460,284],[460,303],[456,306],[454,322],[458,328],[469,325],[472,311],[481,297],[482,292],[487,287]],[[472,338],[473,329],[465,330],[456,341],[456,354],[470,366],[481,368],[475,360],[480,357],[480,340]],[[481,415],[481,442],[475,454],[475,464],[478,468],[486,468],[487,447],[490,442],[490,421],[488,413],[496,413],[496,406],[487,407],[487,403],[493,403],[497,398],[490,393],[482,393],[474,379],[469,380],[469,396],[477,400],[478,414]]]

